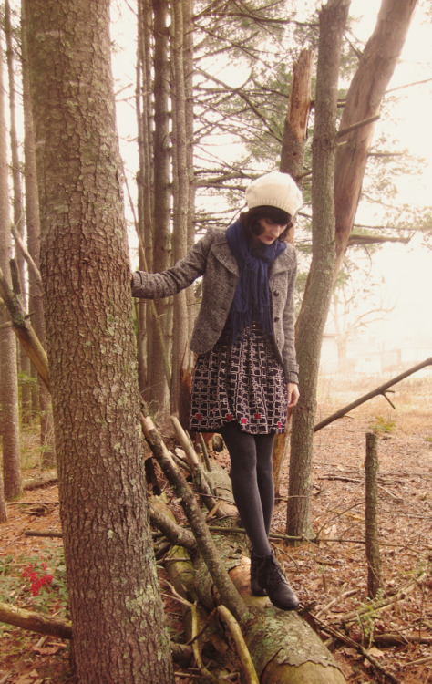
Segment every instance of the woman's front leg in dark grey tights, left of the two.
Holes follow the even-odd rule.
[[[264,517],[261,489],[257,479],[256,435],[242,432],[237,422],[224,425],[221,428],[221,435],[230,452],[232,493],[242,524],[251,540],[254,553],[260,556],[268,555],[272,552],[267,532],[269,506],[265,506]],[[265,486],[265,490],[267,500],[268,485]]]

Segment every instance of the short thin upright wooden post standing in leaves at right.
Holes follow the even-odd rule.
[[[381,586],[381,558],[378,544],[378,438],[366,432],[365,458],[365,550],[367,596],[375,598]]]

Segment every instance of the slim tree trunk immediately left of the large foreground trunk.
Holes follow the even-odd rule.
[[[23,69],[23,113],[24,113],[24,182],[26,187],[26,228],[28,252],[40,268],[40,217],[39,199],[37,196],[37,171],[35,132],[30,101],[30,84],[28,81],[28,60],[26,48],[26,27],[24,12],[21,16],[21,46]],[[29,302],[32,322],[41,345],[46,348],[44,302],[42,287],[37,282],[32,270],[28,273]],[[42,448],[42,467],[52,468],[56,464],[54,449],[54,423],[49,390],[40,376],[38,379],[38,413],[40,416],[40,445]]]

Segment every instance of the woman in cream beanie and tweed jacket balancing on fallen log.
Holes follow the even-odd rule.
[[[246,189],[248,212],[224,231],[211,228],[161,274],[132,275],[132,295],[174,295],[199,276],[202,302],[190,340],[197,353],[190,430],[220,432],[231,458],[234,501],[252,544],[251,589],[274,606],[299,602],[269,544],[274,435],[298,401],[293,287],[296,255],[285,242],[302,194],[272,171]]]

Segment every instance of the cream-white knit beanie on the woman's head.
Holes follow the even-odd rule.
[[[288,173],[271,171],[246,188],[248,209],[270,206],[294,216],[303,204],[302,192]]]

